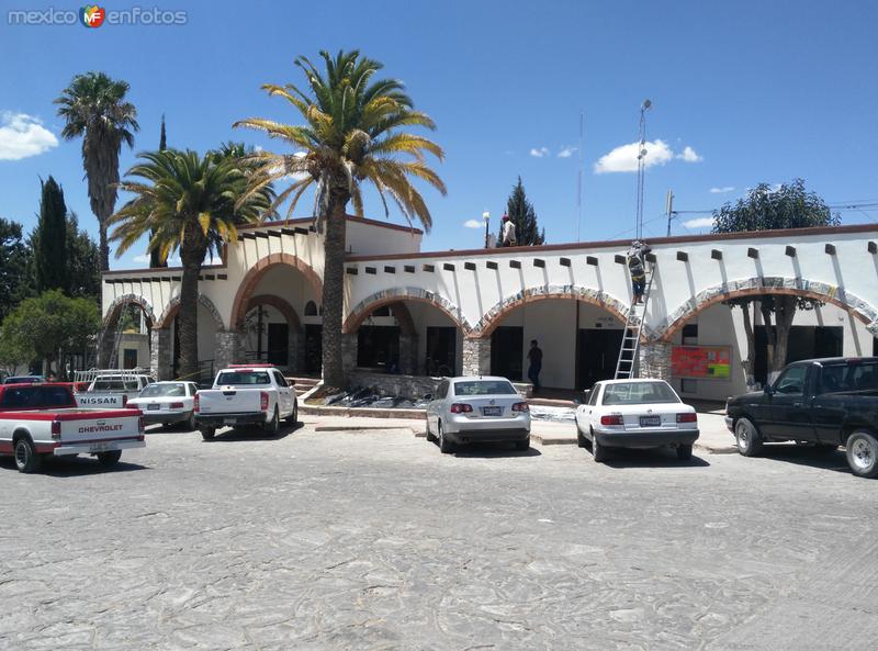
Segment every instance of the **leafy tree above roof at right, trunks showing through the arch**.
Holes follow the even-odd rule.
[[[833,215],[826,203],[809,192],[802,179],[773,188],[759,183],[734,204],[727,203],[713,212],[713,233],[744,231],[774,231],[778,228],[807,228],[810,226],[837,226],[841,217]],[[729,301],[729,305],[744,312],[744,330],[747,337],[747,359],[744,368],[747,379],[753,378],[756,357],[756,310],[762,312],[768,336],[768,370],[778,371],[787,363],[789,332],[797,310],[813,310],[819,301],[798,296],[764,294]],[[751,308],[753,319],[751,321]],[[775,327],[772,327],[772,316]]]

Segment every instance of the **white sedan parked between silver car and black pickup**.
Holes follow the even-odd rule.
[[[608,448],[674,446],[678,459],[693,456],[698,415],[664,380],[605,380],[576,407],[579,447],[590,441],[595,461]]]

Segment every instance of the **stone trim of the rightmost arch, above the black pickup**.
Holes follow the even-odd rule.
[[[854,317],[868,326],[873,336],[878,337],[878,308],[869,305],[844,288],[801,278],[755,277],[730,281],[699,292],[697,296],[691,298],[672,312],[664,324],[654,328],[654,338],[662,341],[671,341],[674,335],[689,319],[717,303],[766,294],[801,296],[832,303],[853,314]]]

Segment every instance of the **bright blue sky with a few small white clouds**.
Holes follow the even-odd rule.
[[[449,193],[426,191],[435,226],[425,249],[480,246],[481,232],[464,224],[489,211],[494,226],[519,175],[548,240],[575,240],[579,153],[570,149],[578,147],[579,111],[582,239],[629,237],[635,175],[611,170],[630,162],[616,149],[635,141],[644,98],[653,102],[648,159],[661,161],[646,173],[648,236],[665,232],[668,189],[678,210],[712,209],[759,181],[795,177],[831,203],[878,200],[878,8],[870,2],[161,0],[103,7],[133,4],[184,10],[187,24],[10,25],[9,9],[79,4],[2,3],[0,216],[32,228],[38,179],[53,175],[81,224],[97,233],[80,142],[53,145],[61,123],[52,100],[76,74],[104,70],[131,83],[142,130],[135,149],[122,153],[124,171],[136,151],[157,147],[162,113],[171,146],[203,151],[235,138],[277,148],[232,123],[295,121],[260,85],[302,82],[292,65],[296,55],[339,48],[383,61],[386,75],[405,81],[416,105],[438,123],[432,137],[446,149],[438,170]],[[565,149],[571,155],[560,156]],[[296,214],[309,209],[305,201]],[[384,218],[374,200],[367,214]],[[878,212],[842,216],[862,223]],[[689,222],[698,217],[680,215],[674,233],[703,231]],[[403,217],[392,212],[391,220]],[[138,267],[140,252],[112,266]]]

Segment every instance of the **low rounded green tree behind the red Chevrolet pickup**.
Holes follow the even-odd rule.
[[[82,352],[101,326],[98,304],[49,290],[25,299],[3,319],[0,361],[22,363],[44,360],[45,372],[64,377],[57,361],[68,352]]]

